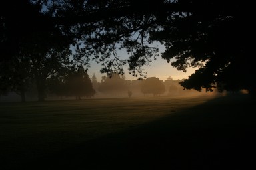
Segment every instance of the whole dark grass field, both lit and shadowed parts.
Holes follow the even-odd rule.
[[[247,169],[255,118],[247,96],[0,103],[0,169]]]

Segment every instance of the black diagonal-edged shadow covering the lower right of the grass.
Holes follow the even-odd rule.
[[[255,100],[216,98],[11,169],[253,169]]]

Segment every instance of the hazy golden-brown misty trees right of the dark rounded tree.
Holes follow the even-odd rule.
[[[195,96],[203,92],[196,90],[184,90],[179,84],[182,80],[160,80],[157,77],[149,77],[144,80],[125,80],[124,76],[113,74],[103,76],[101,82],[97,82],[95,75],[92,77],[93,88],[96,90],[96,97],[101,96]]]

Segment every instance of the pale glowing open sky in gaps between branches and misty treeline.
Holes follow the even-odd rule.
[[[164,47],[160,44],[159,52],[164,52]],[[125,51],[119,51],[119,56],[121,58],[128,59],[127,53]],[[93,74],[97,77],[97,81],[101,82],[101,77],[106,76],[106,74],[101,74],[99,70],[101,70],[101,64],[97,64],[96,62],[91,62],[91,67],[88,70],[89,77],[91,78]],[[132,76],[128,72],[128,64],[123,66],[125,70],[125,78],[126,80],[136,80],[135,76]],[[149,77],[158,77],[160,80],[167,80],[171,76],[173,80],[181,80],[183,78],[188,78],[193,72],[195,72],[196,68],[188,68],[187,72],[178,71],[177,68],[173,68],[170,63],[161,58],[161,55],[157,57],[157,60],[153,60],[150,66],[143,66],[143,71],[146,72],[147,78]]]

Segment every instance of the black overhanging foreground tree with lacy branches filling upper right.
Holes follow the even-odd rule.
[[[144,78],[141,66],[157,56],[157,48],[149,44],[159,41],[166,48],[162,57],[172,66],[184,72],[189,66],[199,68],[181,82],[185,88],[211,91],[218,84],[225,84],[222,87],[229,90],[228,86],[238,84],[235,89],[255,91],[253,66],[248,62],[253,56],[250,37],[254,32],[250,3],[130,0],[83,1],[83,4],[86,7],[79,9],[83,12],[99,10],[65,24],[83,23],[85,36],[81,40],[87,42],[86,49],[93,49],[87,50],[87,54],[103,62],[102,72],[111,74],[113,68],[122,72],[121,65],[128,62],[130,73]],[[67,11],[75,7],[69,3]],[[60,18],[56,21],[63,22]],[[91,21],[94,23],[89,24]],[[91,30],[85,29],[88,26]],[[93,34],[88,35],[92,30]],[[117,44],[130,54],[128,60],[118,58]]]

